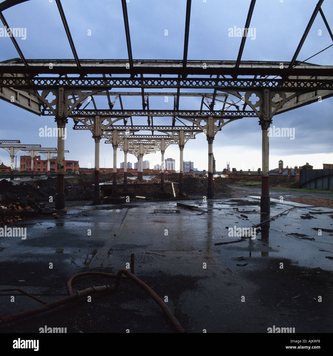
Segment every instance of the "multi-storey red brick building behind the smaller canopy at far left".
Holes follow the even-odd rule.
[[[20,156],[20,172],[27,171],[31,172],[31,157],[30,156]],[[47,159],[41,159],[41,156],[35,156],[33,160],[33,171],[34,172],[47,172]],[[57,171],[57,156],[53,156],[50,159],[50,172],[54,173]],[[67,173],[78,172],[79,171],[79,161],[67,161],[65,160],[64,171]]]

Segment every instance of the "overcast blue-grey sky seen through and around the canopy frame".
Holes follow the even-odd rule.
[[[316,3],[317,0],[257,0],[250,24],[255,28],[255,39],[247,38],[242,60],[290,61]],[[241,38],[229,37],[228,29],[244,27],[249,4],[250,0],[192,0],[188,59],[235,60]],[[62,5],[79,58],[128,58],[120,0],[62,0]],[[182,59],[186,0],[130,0],[127,7],[133,59]],[[322,9],[333,30],[333,1],[325,0]],[[30,0],[3,14],[10,27],[26,28],[26,39],[17,39],[25,58],[73,58],[55,0]],[[91,36],[88,36],[89,30]],[[322,30],[321,36],[318,36],[319,30]],[[297,60],[304,61],[331,44],[318,14]],[[19,57],[8,37],[0,37],[0,48],[0,61]],[[308,62],[332,66],[333,47]],[[100,108],[108,107],[106,98],[96,100]],[[151,97],[149,103],[150,109],[173,109],[173,97],[168,103],[164,97]],[[140,96],[124,98],[123,104],[125,109],[142,108]],[[114,109],[119,108],[117,101]],[[200,99],[180,99],[179,109],[199,108]],[[332,109],[333,98],[328,98],[274,116],[272,125],[295,129],[295,139],[270,138],[269,168],[276,168],[279,159],[285,167],[309,162],[313,168],[322,168],[322,163],[333,163]],[[147,125],[147,118],[137,117],[135,123]],[[155,118],[154,124],[170,124],[170,118]],[[38,116],[0,100],[0,139],[57,147],[57,138],[39,137],[39,129],[45,125],[55,126],[54,118]],[[65,149],[70,152],[66,159],[78,160],[80,167],[87,167],[88,163],[93,167],[94,140],[90,131],[74,131],[72,127],[73,120],[69,119]],[[118,152],[117,166],[120,167],[124,156]],[[213,152],[217,170],[225,168],[227,161],[230,168],[256,170],[261,167],[258,119],[244,118],[224,126],[215,136]],[[194,161],[194,167],[199,170],[207,169],[207,153],[207,141],[199,134],[186,144],[184,160]],[[1,150],[0,157],[10,165],[7,152]],[[165,158],[168,157],[176,159],[176,169],[179,169],[178,146],[172,145],[166,150]],[[104,167],[104,161],[106,167],[112,167],[112,158],[112,146],[101,142],[100,167]],[[132,163],[136,161],[132,155],[128,158]],[[151,167],[161,164],[160,153],[146,155],[146,159]]]

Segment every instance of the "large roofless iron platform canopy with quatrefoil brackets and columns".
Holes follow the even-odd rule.
[[[9,28],[2,12],[26,1],[30,0],[5,0],[0,3],[0,19],[4,26]],[[90,129],[91,124],[94,124],[96,182],[94,201],[99,200],[99,142],[101,132],[104,129],[114,130],[115,126],[113,124],[115,122],[123,120],[124,126],[122,127],[124,127],[124,130],[129,131],[135,131],[133,130],[134,127],[142,127],[142,130],[149,130],[152,133],[154,133],[154,130],[163,133],[171,131],[173,137],[176,137],[176,131],[178,131],[180,162],[183,162],[183,149],[186,142],[184,131],[192,129],[192,136],[196,134],[196,130],[204,132],[208,141],[207,197],[210,199],[213,197],[213,140],[216,133],[231,121],[243,117],[258,117],[262,130],[261,210],[267,213],[267,211],[269,212],[270,199],[268,184],[269,139],[265,131],[271,124],[272,117],[280,112],[311,103],[317,100],[316,97],[318,95],[322,99],[333,96],[333,66],[320,66],[307,63],[306,61],[313,56],[301,62],[297,61],[298,54],[318,12],[321,14],[324,25],[333,41],[332,31],[321,8],[323,1],[318,1],[291,61],[283,63],[281,67],[281,62],[277,61],[241,60],[247,37],[245,36],[245,30],[248,31],[250,26],[256,3],[255,0],[251,0],[250,2],[244,33],[235,61],[193,61],[188,59],[191,0],[186,1],[182,59],[133,59],[126,0],[121,0],[121,4],[128,59],[80,59],[77,55],[61,0],[56,0],[59,15],[73,53],[73,59],[26,59],[15,38],[10,36],[20,59],[9,59],[0,63],[0,98],[2,96],[6,99],[6,96],[2,93],[4,90],[12,90],[14,92],[15,90],[17,92],[25,91],[30,95],[34,95],[35,100],[39,100],[44,108],[41,111],[42,115],[54,115],[57,126],[60,129],[66,126],[69,117],[72,117],[74,120],[74,129],[81,130],[83,127]],[[331,46],[333,46],[333,43]],[[322,51],[331,46],[324,48]],[[52,69],[50,68],[50,63],[52,63]],[[54,74],[59,75],[59,77],[56,77]],[[122,96],[126,94],[121,93],[121,90],[117,90],[117,88],[124,91],[135,88],[137,94],[141,95],[142,109],[130,110],[124,108]],[[149,94],[147,94],[147,91],[150,89],[161,89],[160,95],[164,96],[165,93],[162,91],[166,91],[167,89],[174,91],[173,109],[151,110],[149,108]],[[181,91],[191,91],[193,89],[200,89],[201,93],[196,95],[201,99],[200,109],[179,110],[180,97],[185,96],[182,95]],[[113,91],[116,97],[111,102]],[[55,99],[51,103],[46,99],[50,92],[55,96]],[[223,103],[222,110],[215,110],[215,100],[219,100],[217,99],[219,92],[227,93],[227,95],[224,95],[224,100],[220,100]],[[106,95],[109,109],[98,108],[93,95]],[[255,95],[254,98],[253,95]],[[236,99],[235,102],[232,96],[240,99],[239,101],[242,101],[242,104],[244,104],[241,110],[240,105],[237,105],[239,101]],[[91,100],[88,100],[88,103],[81,109],[81,106],[89,97]],[[250,99],[251,97],[254,102]],[[113,107],[118,98],[120,110],[114,110]],[[211,103],[209,103],[208,98],[212,99]],[[258,100],[256,100],[257,98]],[[228,103],[228,100],[231,103]],[[205,101],[207,101],[208,105],[206,105]],[[93,109],[86,109],[90,102],[92,102]],[[227,104],[228,107],[226,107]],[[203,105],[208,110],[203,110]],[[24,108],[23,105],[21,107]],[[249,109],[245,110],[247,107]],[[146,116],[148,126],[134,126],[132,117],[135,116]],[[153,122],[154,116],[172,117],[171,126],[162,125],[157,130]],[[128,118],[130,118],[131,125],[127,125]],[[108,124],[104,125],[103,120],[106,120]],[[181,122],[183,126],[176,126],[176,120]],[[186,120],[192,126],[187,126],[182,120]],[[84,123],[84,125],[77,125],[79,122]],[[202,122],[203,124],[201,124]],[[115,144],[113,149],[115,164]],[[57,164],[60,168],[57,174],[57,209],[64,208],[63,152],[64,142],[58,140]],[[179,195],[182,196],[182,164],[180,166]],[[115,172],[114,183],[116,183]],[[113,194],[115,194],[116,184],[113,184],[113,186]]]

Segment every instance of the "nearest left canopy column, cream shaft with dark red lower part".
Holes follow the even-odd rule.
[[[67,119],[56,118],[58,132],[64,132],[67,124]],[[59,128],[61,131],[59,131]],[[58,135],[58,153],[57,153],[57,193],[55,205],[56,209],[64,209],[65,207],[65,194],[64,194],[64,162],[65,162],[65,140],[62,135]]]

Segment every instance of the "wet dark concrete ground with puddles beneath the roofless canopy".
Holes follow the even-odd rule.
[[[275,325],[296,333],[331,333],[332,232],[320,236],[313,230],[333,229],[332,214],[313,214],[330,209],[272,198],[271,216],[297,208],[271,221],[269,231],[262,229],[256,239],[214,245],[240,238],[229,237],[227,227],[260,223],[258,194],[252,195],[188,201],[208,213],[177,207],[174,201],[136,202],[71,206],[58,220],[31,219],[16,225],[27,227],[26,240],[0,238],[0,289],[19,287],[51,302],[68,295],[66,283],[73,274],[116,273],[135,253],[136,276],[162,299],[168,297],[168,307],[187,332],[267,333]],[[312,218],[301,219],[308,213]],[[73,287],[112,283],[87,276]],[[0,293],[0,316],[38,305],[17,292]],[[90,303],[82,299],[1,325],[0,332],[38,333],[44,325],[67,327],[67,333],[172,332],[157,304],[131,281],[122,281],[117,293],[92,295]]]

